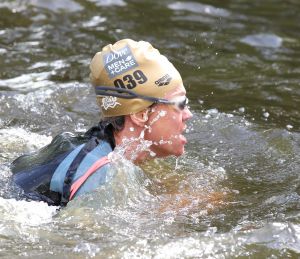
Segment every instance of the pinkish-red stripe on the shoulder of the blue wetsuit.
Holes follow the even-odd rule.
[[[81,177],[79,177],[70,188],[70,197],[69,201],[72,200],[75,193],[79,190],[79,188],[85,183],[85,181],[95,173],[99,168],[109,163],[109,159],[107,156],[100,158],[97,160]]]

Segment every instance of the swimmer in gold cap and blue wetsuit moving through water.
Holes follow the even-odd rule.
[[[57,144],[51,159],[40,157],[12,164],[14,182],[27,199],[65,206],[70,200],[105,184],[110,154],[125,140],[124,157],[140,164],[155,157],[184,153],[186,121],[192,117],[182,78],[170,61],[145,41],[124,39],[105,46],[90,64],[90,79],[101,111],[98,126],[88,130],[83,143]],[[141,141],[149,150],[136,150]],[[46,152],[46,151],[45,151]],[[137,152],[132,158],[132,153]],[[28,165],[29,164],[29,165]]]

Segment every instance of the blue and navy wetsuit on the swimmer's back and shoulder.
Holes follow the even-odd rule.
[[[72,184],[100,158],[112,151],[111,145],[97,137],[59,154],[47,163],[35,165],[13,175],[14,182],[24,190],[27,199],[65,206]],[[109,164],[97,169],[80,185],[74,197],[91,192],[106,181]]]

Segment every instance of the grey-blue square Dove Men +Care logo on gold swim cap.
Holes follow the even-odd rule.
[[[128,45],[118,51],[111,51],[104,55],[103,63],[110,78],[114,78],[138,66]]]

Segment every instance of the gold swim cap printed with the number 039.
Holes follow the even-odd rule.
[[[123,39],[105,46],[92,59],[90,70],[94,87],[128,89],[156,98],[164,98],[166,93],[182,84],[172,63],[145,41]],[[101,95],[96,98],[104,117],[136,113],[153,103],[139,98]]]

